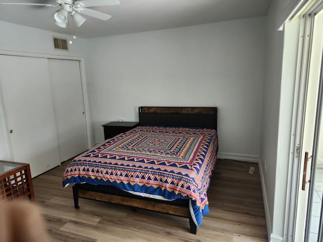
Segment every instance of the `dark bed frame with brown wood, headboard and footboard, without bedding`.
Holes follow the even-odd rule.
[[[139,125],[201,127],[217,130],[217,107],[139,107]],[[74,206],[79,208],[79,198],[122,204],[189,219],[190,232],[196,234],[197,226],[189,210],[189,200],[160,201],[135,196],[113,186],[75,184]]]

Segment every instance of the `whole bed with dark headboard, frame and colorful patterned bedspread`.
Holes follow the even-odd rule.
[[[208,213],[216,166],[217,107],[139,107],[139,126],[75,157],[63,174],[79,198],[189,219],[196,234]]]

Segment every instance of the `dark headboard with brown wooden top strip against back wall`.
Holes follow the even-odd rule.
[[[139,124],[218,128],[217,107],[139,107]]]

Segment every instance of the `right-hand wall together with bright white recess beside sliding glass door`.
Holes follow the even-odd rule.
[[[269,241],[283,241],[299,22],[280,27],[288,0],[274,0],[267,16],[259,165]],[[288,8],[291,8],[290,6]],[[285,41],[285,45],[284,45]]]

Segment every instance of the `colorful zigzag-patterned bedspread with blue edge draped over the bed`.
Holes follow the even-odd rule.
[[[166,200],[190,199],[199,226],[208,213],[206,191],[217,151],[215,130],[139,126],[77,156],[63,186],[112,185]]]

